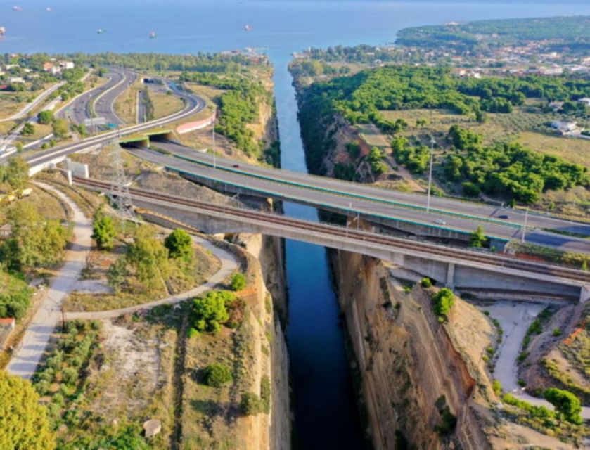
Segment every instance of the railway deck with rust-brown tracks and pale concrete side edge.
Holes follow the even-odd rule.
[[[76,184],[98,189],[99,191],[110,191],[110,183],[93,179],[84,179],[74,177]],[[323,236],[329,236],[331,242],[335,240],[354,241],[360,245],[377,245],[380,247],[387,246],[392,251],[400,251],[409,255],[428,255],[428,258],[441,260],[444,262],[455,262],[459,264],[473,264],[475,266],[485,266],[492,270],[511,270],[519,273],[527,273],[529,277],[537,278],[543,276],[544,279],[552,278],[569,283],[570,285],[585,285],[590,283],[590,273],[574,269],[566,269],[560,266],[550,264],[541,264],[537,262],[523,261],[515,257],[506,257],[502,255],[490,255],[474,250],[451,248],[444,245],[425,243],[422,241],[397,238],[379,233],[356,230],[353,227],[336,226],[333,224],[323,224],[302,219],[293,219],[279,214],[261,212],[258,210],[248,210],[239,207],[229,207],[226,205],[214,205],[212,203],[184,198],[178,195],[162,194],[146,189],[129,188],[132,198],[143,200],[153,200],[154,202],[169,205],[183,206],[194,208],[210,217],[231,217],[235,221],[253,222],[264,226],[278,226],[282,229],[298,229],[309,233],[319,233]],[[305,233],[302,235],[305,236]],[[305,240],[305,238],[302,238]],[[331,245],[326,242],[329,247]]]

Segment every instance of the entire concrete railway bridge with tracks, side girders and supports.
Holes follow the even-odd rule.
[[[75,183],[97,191],[110,190],[110,183],[104,181],[75,178]],[[451,248],[268,212],[212,205],[144,189],[130,188],[129,193],[136,205],[165,214],[174,210],[182,221],[207,233],[262,233],[357,252],[395,262],[458,290],[506,290],[581,301],[590,297],[590,273],[586,271],[529,262],[513,255]]]

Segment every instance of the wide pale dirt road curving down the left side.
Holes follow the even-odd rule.
[[[63,266],[56,276],[51,278],[49,289],[44,299],[33,316],[27,331],[23,336],[20,349],[12,357],[6,370],[13,375],[22,378],[31,378],[41,356],[43,356],[47,343],[53,334],[53,329],[61,319],[61,304],[77,283],[84,264],[86,255],[91,248],[92,224],[84,216],[82,210],[66,195],[48,184],[36,182],[37,186],[58,196],[72,210],[72,222],[74,224],[74,237],[72,247],[65,252]]]

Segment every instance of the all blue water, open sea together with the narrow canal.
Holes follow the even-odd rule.
[[[22,11],[12,11],[14,5]],[[45,11],[48,6],[51,13]],[[400,28],[450,20],[575,14],[590,14],[590,1],[0,0],[0,26],[6,27],[0,53],[263,49],[275,67],[281,164],[306,172],[295,91],[287,71],[293,51],[387,44]],[[252,31],[245,32],[245,25]],[[96,33],[99,27],[103,34]],[[151,31],[156,39],[148,39]],[[310,207],[287,203],[285,211],[317,219]],[[288,240],[286,269],[298,447],[359,449],[362,430],[326,251]]]

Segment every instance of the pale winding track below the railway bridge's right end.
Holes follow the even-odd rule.
[[[494,302],[485,308],[489,315],[500,322],[504,339],[498,349],[498,359],[494,377],[502,385],[504,392],[528,401],[530,404],[553,409],[553,405],[544,399],[527,394],[524,387],[518,385],[518,354],[527,329],[546,305],[525,302]],[[590,419],[590,408],[582,408],[582,418]]]

